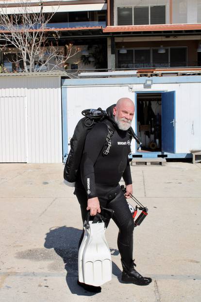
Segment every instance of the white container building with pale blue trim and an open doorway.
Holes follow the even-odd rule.
[[[132,126],[144,146],[138,151],[133,140],[133,157],[187,158],[192,157],[190,150],[201,149],[200,75],[66,79],[62,91],[67,112],[63,114],[64,157],[82,110],[106,109],[122,97],[134,101]],[[152,124],[145,109],[149,104],[155,115]]]

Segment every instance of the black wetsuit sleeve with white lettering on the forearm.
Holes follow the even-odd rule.
[[[94,165],[106,142],[107,134],[107,125],[99,123],[86,136],[81,160],[81,178],[88,198],[97,197]]]

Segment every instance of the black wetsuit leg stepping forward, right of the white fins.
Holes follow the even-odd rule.
[[[130,267],[133,261],[134,219],[123,192],[118,192],[117,196],[108,202],[107,207],[115,211],[112,219],[119,229],[117,238],[118,250],[121,260]]]

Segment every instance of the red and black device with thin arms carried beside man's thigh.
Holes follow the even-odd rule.
[[[126,188],[124,187],[124,185],[121,185],[121,190],[123,191],[123,193],[125,194],[126,193]],[[142,223],[142,221],[145,219],[145,217],[148,215],[148,208],[147,207],[144,207],[138,200],[137,200],[137,198],[135,198],[134,197],[134,195],[132,195],[132,194],[130,194],[130,196],[131,196],[131,198],[136,202],[136,204],[138,205],[138,206],[136,206],[135,207],[135,209],[134,209],[134,207],[130,204],[130,203],[128,203],[128,206],[129,206],[129,209],[130,209],[130,211],[131,211],[131,213],[132,213],[132,216],[133,216],[133,218],[135,218],[135,216],[137,215],[137,210],[140,210],[140,211],[142,211],[140,214],[139,214],[139,216],[136,218],[136,220],[134,221],[134,226],[135,227],[137,227],[137,226],[139,226],[141,223]]]

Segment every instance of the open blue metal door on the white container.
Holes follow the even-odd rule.
[[[175,153],[175,91],[162,93],[162,152]]]

